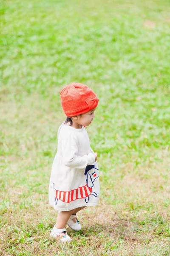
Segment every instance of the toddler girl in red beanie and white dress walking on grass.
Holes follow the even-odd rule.
[[[76,213],[99,200],[97,153],[91,149],[84,128],[93,121],[99,99],[79,83],[65,86],[60,96],[67,119],[58,130],[57,154],[51,170],[49,202],[59,214],[50,236],[70,242],[65,225],[81,230]]]

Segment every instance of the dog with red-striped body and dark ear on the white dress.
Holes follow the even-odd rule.
[[[99,178],[96,174],[97,168],[95,168],[95,165],[90,165],[85,168],[85,177],[86,177],[86,184],[85,186],[81,186],[77,189],[73,189],[71,191],[59,191],[55,189],[55,197],[54,197],[54,204],[56,205],[58,200],[70,203],[72,201],[75,201],[77,199],[83,199],[85,198],[85,202],[88,203],[89,196],[94,195],[97,197],[96,192],[93,191],[94,181]],[[54,184],[55,186],[55,184]]]

